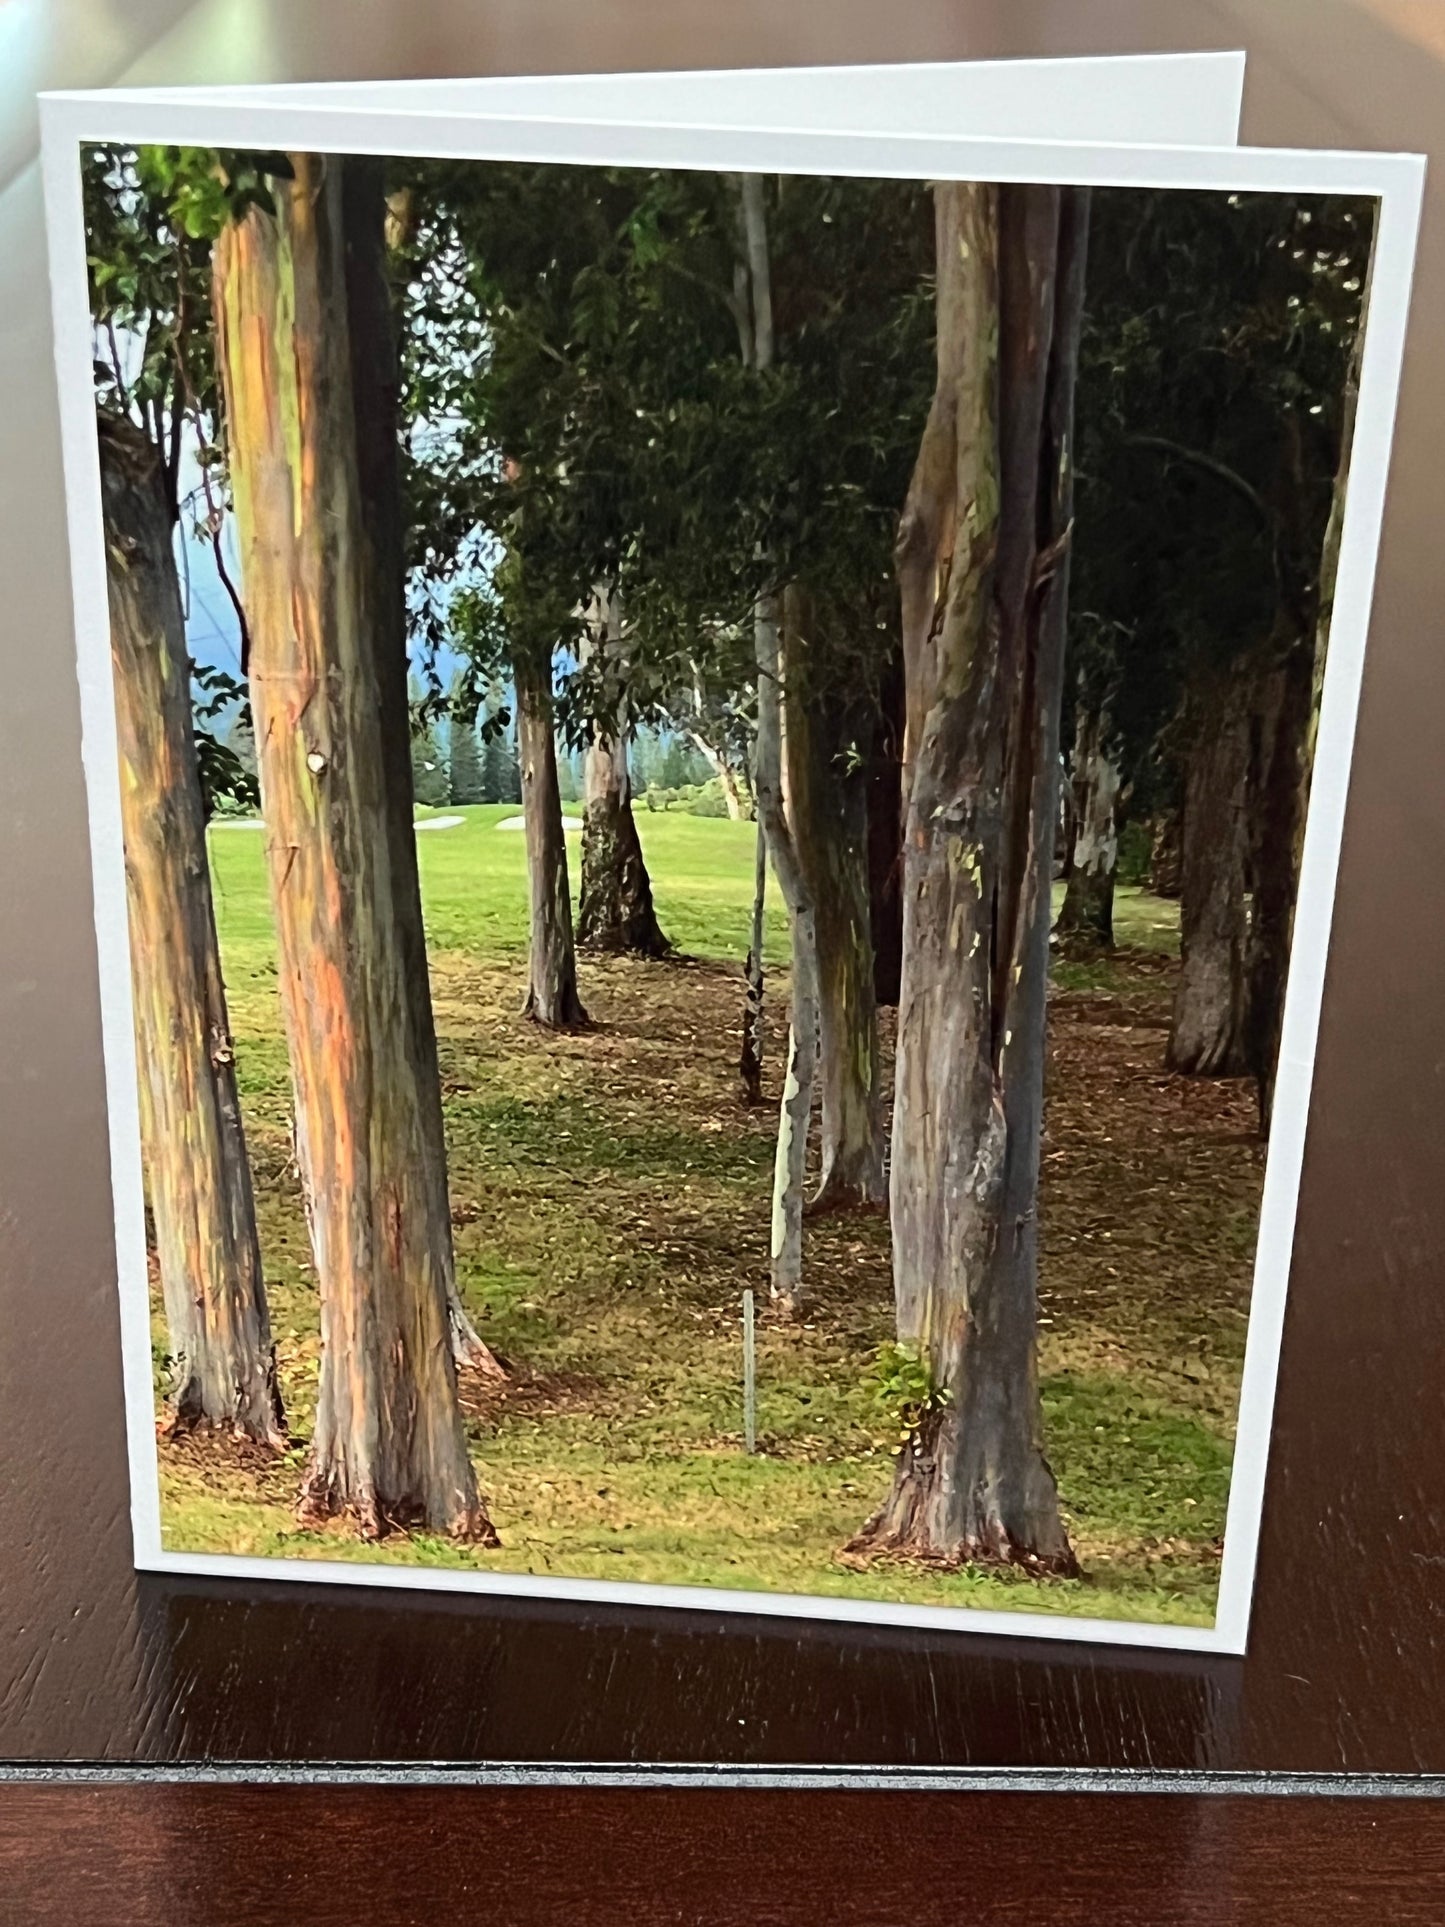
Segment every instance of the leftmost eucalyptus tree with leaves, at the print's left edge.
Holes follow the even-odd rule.
[[[239,686],[191,663],[177,524],[220,545],[210,235],[254,170],[200,148],[85,156],[100,493],[121,771],[141,1135],[179,1430],[283,1443],[206,815],[249,779],[214,728]],[[183,497],[187,437],[200,488]],[[241,624],[245,638],[245,624]],[[200,698],[200,680],[206,684]]]

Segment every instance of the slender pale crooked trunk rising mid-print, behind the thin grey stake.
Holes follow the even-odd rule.
[[[748,289],[751,328],[744,328],[744,358],[759,374],[773,366],[773,272],[769,262],[767,204],[763,179],[757,173],[742,177],[742,235],[740,287]],[[773,1160],[773,1233],[771,1280],[773,1301],[786,1312],[798,1312],[803,1303],[803,1183],[807,1175],[807,1131],[813,1118],[813,1081],[817,1075],[817,929],[815,906],[807,875],[798,858],[782,775],[782,595],[763,592],[753,605],[753,659],[757,663],[757,744],[753,796],[757,821],[767,836],[773,873],[788,911],[792,950],[788,1064],[782,1077],[778,1108],[778,1143]],[[761,950],[757,952],[761,964]]]

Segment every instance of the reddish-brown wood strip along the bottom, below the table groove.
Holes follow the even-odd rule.
[[[927,1879],[919,1842],[927,1842]],[[1412,1927],[1433,1800],[8,1786],[15,1927]]]

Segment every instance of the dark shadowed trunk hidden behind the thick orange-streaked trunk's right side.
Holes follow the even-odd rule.
[[[422,883],[416,867],[416,800],[412,794],[412,728],[407,674],[407,578],[401,513],[401,356],[397,318],[387,285],[387,231],[403,237],[410,206],[385,200],[385,162],[353,154],[341,166],[343,260],[347,324],[351,330],[351,397],[356,416],[356,482],[362,499],[362,555],[368,570],[372,622],[362,636],[376,663],[381,721],[381,775],[387,798],[387,846],[397,937],[403,946],[412,1060],[422,1123],[420,1177],[432,1193],[430,1214],[447,1224],[447,1316],[459,1364],[505,1378],[482,1341],[457,1289],[451,1254],[447,1135],[441,1112],[441,1068],[426,962]]]

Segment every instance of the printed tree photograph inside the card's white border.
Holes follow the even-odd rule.
[[[81,172],[166,1553],[1214,1626],[1374,198]]]

